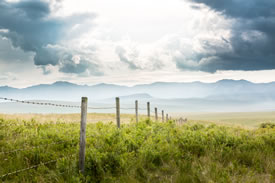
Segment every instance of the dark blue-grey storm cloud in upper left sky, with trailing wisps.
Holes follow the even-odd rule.
[[[64,69],[64,64],[61,66],[63,52],[60,53],[54,47],[49,48],[49,45],[58,44],[74,25],[93,20],[95,15],[85,13],[66,18],[53,18],[50,15],[50,4],[42,0],[23,0],[16,3],[0,0],[0,29],[8,30],[0,31],[0,36],[11,40],[14,47],[34,52],[34,63],[37,66],[58,66],[61,72],[66,73],[92,70],[95,64],[89,64],[88,61],[75,66],[70,63],[71,69]],[[80,33],[81,31],[78,32]]]

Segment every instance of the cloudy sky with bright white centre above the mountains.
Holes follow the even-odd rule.
[[[0,86],[275,81],[273,0],[0,0]]]

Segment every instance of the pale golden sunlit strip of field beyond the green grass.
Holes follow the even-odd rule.
[[[175,115],[173,119],[179,118]],[[178,116],[178,117],[177,117]],[[181,115],[188,118],[188,123],[218,124],[242,128],[257,128],[261,123],[275,122],[275,112],[246,112],[246,113],[187,113]],[[35,120],[43,122],[79,123],[80,114],[0,114],[0,118],[17,121]],[[139,115],[140,120],[146,115]],[[154,120],[154,116],[151,116]],[[121,114],[121,123],[135,122],[134,114]],[[87,122],[116,122],[116,115],[111,113],[88,113]]]

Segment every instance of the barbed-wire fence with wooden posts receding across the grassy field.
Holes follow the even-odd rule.
[[[27,101],[27,100],[16,100],[16,99],[11,99],[11,98],[4,98],[4,97],[0,97],[0,99],[5,100],[5,101],[11,101],[11,102],[17,102],[17,103],[24,103],[24,104],[34,104],[34,105],[43,105],[43,106],[54,106],[54,107],[65,107],[65,108],[79,108],[81,109],[81,122],[80,122],[80,138],[79,138],[79,170],[81,173],[84,173],[85,170],[85,147],[86,147],[86,138],[91,137],[92,135],[86,136],[86,124],[87,122],[95,122],[95,121],[115,121],[117,123],[117,128],[120,128],[120,122],[122,120],[129,120],[129,119],[133,119],[136,121],[136,123],[138,123],[139,121],[139,110],[142,111],[147,111],[147,118],[151,119],[151,118],[155,118],[156,121],[159,120],[160,116],[162,119],[162,122],[164,122],[164,111],[162,110],[161,113],[158,112],[158,108],[155,107],[155,110],[151,110],[150,109],[150,102],[147,102],[147,107],[146,108],[140,108],[138,107],[138,101],[136,100],[135,103],[133,104],[135,107],[121,107],[120,106],[120,99],[117,97],[115,100],[115,106],[108,106],[108,107],[95,107],[95,106],[88,106],[88,98],[86,97],[82,97],[81,100],[81,106],[79,105],[64,105],[64,104],[57,104],[57,103],[50,103],[50,102],[35,102],[35,101]],[[109,110],[109,109],[115,109],[114,113],[115,115],[112,118],[103,118],[103,119],[90,119],[87,120],[87,110],[88,109],[92,109],[92,110]],[[152,108],[153,109],[153,108]],[[120,112],[121,110],[133,110],[133,113],[135,115],[135,118],[133,117],[123,117],[121,118]],[[171,119],[171,116],[170,116]],[[182,118],[181,118],[182,119]],[[169,120],[169,115],[166,113],[166,121]],[[58,123],[59,124],[59,123]],[[63,124],[63,123],[60,123]],[[6,125],[2,125],[1,126],[6,126]],[[10,125],[11,126],[11,125]],[[41,148],[41,147],[45,147],[45,146],[52,146],[52,145],[56,145],[56,144],[62,144],[62,143],[66,143],[66,141],[59,141],[59,142],[54,142],[54,143],[48,143],[48,144],[42,144],[42,145],[38,145],[38,146],[23,146],[23,148],[20,149],[15,149],[15,150],[11,150],[11,151],[2,151],[0,152],[0,154],[10,154],[10,153],[16,153],[19,151],[25,151],[25,150],[30,150],[30,149],[36,149],[36,148]],[[70,157],[72,156],[76,156],[76,154],[74,155],[70,155]],[[39,166],[42,165],[47,165],[50,163],[54,163],[57,162],[58,160],[65,158],[65,157],[61,157],[55,160],[50,160],[47,162],[41,162],[37,165],[33,165],[24,169],[19,169],[16,170],[14,172],[10,172],[4,175],[1,175],[0,178],[4,178],[13,174],[17,174],[23,171],[27,171],[30,169],[34,169],[37,168]]]

